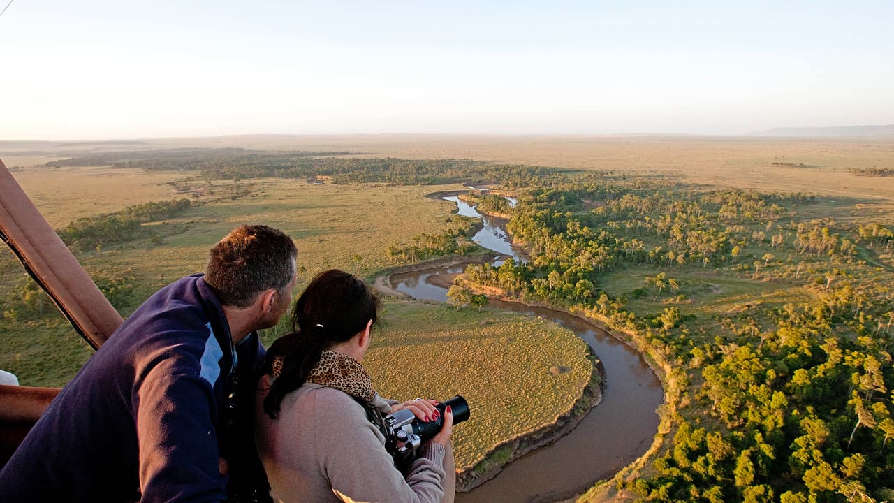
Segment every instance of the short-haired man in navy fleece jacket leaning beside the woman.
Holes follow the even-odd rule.
[[[291,304],[296,255],[288,235],[240,226],[204,276],[149,297],[0,470],[0,501],[224,501],[225,448],[252,435],[227,432],[237,382],[264,358],[257,329]]]

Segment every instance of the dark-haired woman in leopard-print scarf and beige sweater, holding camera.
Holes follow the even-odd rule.
[[[357,277],[325,271],[296,301],[291,333],[270,346],[255,438],[274,501],[452,501],[449,407],[443,429],[419,448],[406,474],[367,419],[367,407],[383,414],[409,408],[420,421],[439,417],[434,400],[397,404],[371,388],[360,362],[378,308]]]

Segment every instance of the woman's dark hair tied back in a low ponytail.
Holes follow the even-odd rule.
[[[267,350],[264,373],[273,374],[277,359],[282,367],[264,399],[264,412],[275,419],[283,396],[304,384],[323,351],[356,336],[369,320],[375,323],[378,310],[378,297],[358,277],[339,269],[316,275],[292,308],[291,332]]]

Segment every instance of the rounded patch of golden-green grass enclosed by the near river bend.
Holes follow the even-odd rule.
[[[365,361],[375,388],[401,399],[464,396],[472,418],[453,436],[460,470],[568,413],[593,371],[582,340],[539,318],[404,302],[383,314]]]

